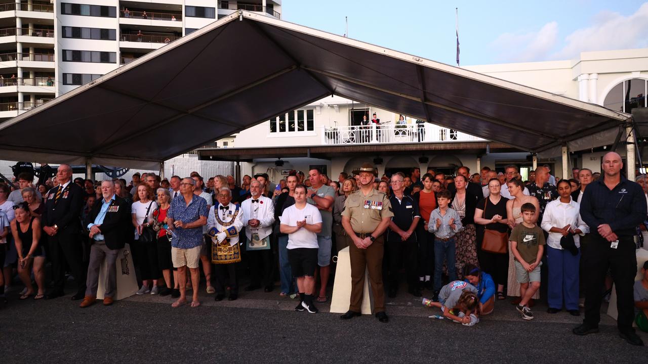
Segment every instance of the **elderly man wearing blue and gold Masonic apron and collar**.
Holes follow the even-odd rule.
[[[207,227],[213,242],[211,261],[216,265],[215,301],[225,298],[226,284],[229,287],[229,301],[238,298],[237,262],[241,261],[238,233],[243,228],[243,213],[238,205],[231,203],[232,192],[223,187],[216,192],[217,205],[209,209]],[[226,280],[226,277],[229,278]]]

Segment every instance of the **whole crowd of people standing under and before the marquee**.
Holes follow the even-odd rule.
[[[648,183],[621,176],[614,152],[601,167],[603,174],[574,168],[572,179],[556,180],[538,166],[523,181],[515,165],[472,175],[461,166],[456,176],[432,168],[421,176],[413,168],[378,178],[365,163],[338,180],[314,168],[277,183],[267,174],[244,176],[240,186],[233,176],[205,181],[197,172],[95,183],[72,180],[67,165],[34,185],[33,174],[22,172],[15,185],[0,184],[0,297],[6,302],[17,275],[25,286],[20,299],[54,299],[64,295],[67,272],[76,282],[72,299],[91,306],[105,260],[108,306],[117,256],[130,244],[138,295],[198,307],[203,275],[215,301],[233,301],[239,275],[249,270],[244,290],[270,293],[277,276],[279,295],[298,298],[295,310],[315,313],[316,304],[329,301],[332,256],[348,247],[352,291],[341,319],[360,315],[368,271],[376,318],[388,322],[384,296],[398,295],[404,271],[408,294],[429,291],[422,302],[440,308],[439,317],[472,326],[508,296],[531,320],[542,292],[548,313],[578,316],[584,306],[573,332],[586,335],[598,331],[601,301],[614,282],[619,333],[643,345],[632,323],[648,331],[648,267],[633,282]]]

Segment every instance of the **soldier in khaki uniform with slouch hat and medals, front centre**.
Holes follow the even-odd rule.
[[[371,291],[376,317],[382,323],[389,321],[385,313],[385,291],[382,286],[382,256],[384,240],[382,233],[389,226],[391,204],[384,192],[373,188],[373,181],[378,176],[378,170],[370,163],[364,163],[362,168],[354,170],[353,174],[360,176],[360,189],[347,198],[342,211],[342,226],[347,232],[349,242],[349,258],[351,258],[351,303],[349,311],[340,316],[341,319],[351,319],[360,316],[362,304],[362,289],[364,287],[365,269],[369,271]]]

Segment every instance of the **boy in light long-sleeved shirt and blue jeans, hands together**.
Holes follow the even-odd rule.
[[[441,291],[441,272],[443,271],[443,258],[448,266],[448,279],[450,282],[457,279],[457,268],[454,266],[454,253],[456,238],[461,226],[461,218],[456,210],[450,209],[450,191],[437,192],[439,207],[432,211],[428,220],[428,231],[434,233],[434,301],[439,300]]]

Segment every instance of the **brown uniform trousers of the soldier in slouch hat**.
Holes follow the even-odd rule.
[[[348,237],[347,237],[348,238]],[[351,302],[349,310],[360,312],[364,290],[365,270],[369,271],[369,282],[373,293],[374,312],[385,311],[385,290],[382,285],[382,256],[384,238],[378,236],[367,249],[359,249],[349,238],[349,258],[351,260]]]

